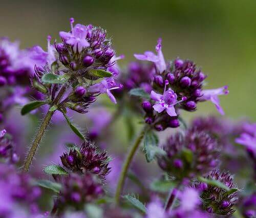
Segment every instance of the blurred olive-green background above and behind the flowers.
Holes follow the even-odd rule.
[[[1,1],[0,35],[19,39],[21,47],[46,48],[50,34],[69,30],[69,18],[108,30],[118,54],[154,50],[163,38],[166,59],[194,60],[208,75],[208,88],[228,84],[221,97],[226,115],[256,119],[256,1]],[[210,103],[199,104],[198,115],[217,113]],[[193,113],[193,116],[195,114]],[[191,116],[191,115],[190,115]]]

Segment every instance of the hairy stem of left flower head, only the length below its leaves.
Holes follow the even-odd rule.
[[[32,146],[30,147],[29,150],[29,154],[26,157],[26,160],[24,162],[24,166],[23,166],[23,171],[24,172],[28,172],[29,171],[29,167],[32,163],[32,160],[34,158],[35,152],[39,147],[39,144],[42,140],[42,137],[44,137],[45,132],[46,132],[46,128],[52,118],[54,111],[48,111],[48,113],[45,116],[45,119],[42,121],[41,126],[39,127],[38,133],[35,136],[34,142],[32,144]]]

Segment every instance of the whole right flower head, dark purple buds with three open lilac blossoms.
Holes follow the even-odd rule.
[[[206,76],[194,62],[177,58],[166,63],[161,50],[161,39],[158,40],[156,51],[157,55],[153,52],[135,54],[137,59],[151,61],[155,67],[154,71],[150,69],[148,72],[149,75],[154,72],[153,79],[144,89],[151,91],[150,100],[142,103],[146,123],[153,125],[158,131],[178,127],[180,109],[195,111],[197,103],[206,100],[211,100],[217,110],[224,114],[218,95],[227,94],[227,86],[203,90]]]

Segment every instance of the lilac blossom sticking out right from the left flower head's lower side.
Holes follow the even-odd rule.
[[[89,91],[91,93],[106,93],[109,96],[110,100],[116,104],[116,98],[110,91],[120,88],[122,88],[122,85],[120,84],[119,86],[116,86],[114,78],[108,78],[103,79],[101,82],[90,86]]]

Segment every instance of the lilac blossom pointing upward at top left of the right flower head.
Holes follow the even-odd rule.
[[[134,54],[134,56],[138,60],[147,60],[147,61],[154,62],[158,72],[163,73],[163,71],[166,70],[166,63],[164,61],[164,57],[163,57],[161,48],[162,48],[162,39],[159,38],[158,42],[157,42],[157,46],[156,46],[157,55],[151,51],[146,51],[146,52],[144,52],[144,54]]]

